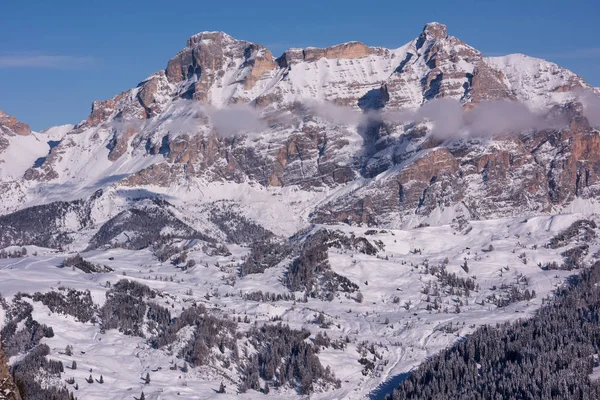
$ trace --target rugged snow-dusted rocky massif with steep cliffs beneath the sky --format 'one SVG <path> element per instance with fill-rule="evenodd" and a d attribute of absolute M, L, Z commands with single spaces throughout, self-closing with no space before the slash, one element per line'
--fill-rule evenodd
<path fill-rule="evenodd" d="M 78 193 L 98 182 L 328 193 L 311 205 L 312 222 L 398 226 L 543 213 L 594 198 L 600 188 L 600 139 L 581 90 L 597 91 L 544 60 L 482 57 L 440 23 L 398 49 L 349 42 L 278 58 L 264 46 L 203 32 L 165 70 L 94 102 L 88 119 L 23 179 L 32 190 L 69 183 Z M 378 117 L 435 99 L 471 111 L 521 102 L 566 123 L 439 138 L 429 123 Z M 11 118 L 0 114 L 0 131 L 30 132 Z"/>

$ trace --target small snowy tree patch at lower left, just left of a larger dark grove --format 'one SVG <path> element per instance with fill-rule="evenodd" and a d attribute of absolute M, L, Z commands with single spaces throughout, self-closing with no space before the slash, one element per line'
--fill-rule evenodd
<path fill-rule="evenodd" d="M 72 315 L 80 322 L 96 322 L 98 307 L 89 290 L 59 288 L 58 291 L 37 292 L 32 298 L 42 302 L 52 312 Z"/>

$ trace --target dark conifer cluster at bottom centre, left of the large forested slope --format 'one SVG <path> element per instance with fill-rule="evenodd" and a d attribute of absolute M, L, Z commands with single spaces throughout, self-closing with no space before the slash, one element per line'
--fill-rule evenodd
<path fill-rule="evenodd" d="M 340 386 L 329 367 L 319 361 L 318 347 L 306 342 L 310 332 L 279 323 L 254 328 L 247 335 L 258 353 L 249 356 L 243 370 L 242 392 L 261 390 L 259 378 L 275 387 L 296 388 L 301 394 L 310 394 L 316 383 Z"/>

